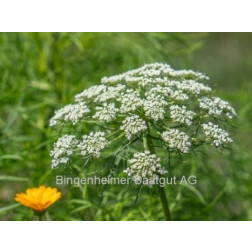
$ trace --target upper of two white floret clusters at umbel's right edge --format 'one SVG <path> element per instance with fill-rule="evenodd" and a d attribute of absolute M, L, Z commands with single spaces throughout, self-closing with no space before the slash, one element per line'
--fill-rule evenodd
<path fill-rule="evenodd" d="M 219 97 L 202 97 L 199 98 L 200 108 L 208 111 L 209 115 L 221 115 L 224 113 L 229 119 L 237 116 L 233 107 L 227 101 L 223 101 Z"/>

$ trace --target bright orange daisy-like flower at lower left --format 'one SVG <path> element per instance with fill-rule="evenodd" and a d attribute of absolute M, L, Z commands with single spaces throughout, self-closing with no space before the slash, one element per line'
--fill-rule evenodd
<path fill-rule="evenodd" d="M 43 213 L 61 197 L 61 192 L 56 188 L 40 186 L 28 188 L 26 193 L 17 193 L 15 200 L 24 206 L 30 207 L 35 212 Z"/>

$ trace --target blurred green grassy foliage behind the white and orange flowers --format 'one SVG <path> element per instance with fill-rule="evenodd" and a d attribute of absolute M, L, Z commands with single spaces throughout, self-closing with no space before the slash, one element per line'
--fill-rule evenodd
<path fill-rule="evenodd" d="M 50 168 L 55 133 L 48 122 L 55 109 L 103 76 L 151 62 L 206 73 L 216 96 L 239 114 L 230 152 L 211 149 L 170 171 L 198 179 L 196 186 L 165 188 L 172 219 L 252 220 L 251 45 L 251 33 L 1 33 L 0 220 L 36 220 L 14 202 L 15 194 L 55 186 L 55 175 L 63 172 Z M 90 172 L 108 174 L 109 162 Z M 59 189 L 63 197 L 49 209 L 48 220 L 163 220 L 155 189 Z"/>

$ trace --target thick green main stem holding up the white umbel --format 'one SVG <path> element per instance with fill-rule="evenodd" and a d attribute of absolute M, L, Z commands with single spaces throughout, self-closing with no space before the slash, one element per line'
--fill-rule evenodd
<path fill-rule="evenodd" d="M 148 148 L 149 148 L 150 152 L 153 153 L 153 154 L 156 154 L 155 147 L 154 147 L 152 139 L 151 139 L 149 127 L 148 127 L 148 134 L 147 134 L 146 138 L 144 137 L 144 145 L 146 145 L 145 141 L 147 142 L 147 145 L 148 145 Z M 165 189 L 164 189 L 164 187 L 158 185 L 158 191 L 159 191 L 161 203 L 162 203 L 162 206 L 163 206 L 165 219 L 167 221 L 170 221 L 171 220 L 171 214 L 170 214 L 170 210 L 169 210 L 169 204 L 168 204 L 167 196 L 166 196 L 166 193 L 165 193 Z"/>

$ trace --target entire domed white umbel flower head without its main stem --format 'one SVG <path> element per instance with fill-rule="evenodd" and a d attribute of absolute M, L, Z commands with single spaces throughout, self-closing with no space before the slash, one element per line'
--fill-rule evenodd
<path fill-rule="evenodd" d="M 83 118 L 87 123 L 100 121 L 97 125 L 109 123 L 106 131 L 110 137 L 115 137 L 116 134 L 124 135 L 120 132 L 124 131 L 129 141 L 138 134 L 141 136 L 143 132 L 153 132 L 156 136 L 161 136 L 160 140 L 163 139 L 170 149 L 181 153 L 189 152 L 192 148 L 191 138 L 195 137 L 199 130 L 219 147 L 232 140 L 227 132 L 207 120 L 210 121 L 216 115 L 231 119 L 236 117 L 236 112 L 228 102 L 211 97 L 212 89 L 203 84 L 208 79 L 204 74 L 192 70 L 176 71 L 167 64 L 147 64 L 122 74 L 104 77 L 100 85 L 91 86 L 77 94 L 76 104 L 56 111 L 50 125 L 53 126 L 59 121 L 76 124 Z M 167 130 L 171 124 L 174 128 Z M 183 127 L 184 131 L 178 130 L 177 126 Z M 116 132 L 115 135 L 110 134 L 110 128 Z M 51 153 L 54 167 L 68 162 L 74 148 L 81 150 L 84 157 L 98 158 L 109 143 L 103 132 L 83 136 L 78 147 L 74 146 L 77 141 L 75 139 L 68 147 L 64 145 L 62 148 L 60 146 L 63 140 L 59 139 L 59 143 L 55 143 L 60 151 L 55 147 Z M 163 141 L 160 142 L 163 144 Z M 137 179 L 139 176 L 152 177 L 157 171 L 161 173 L 162 168 L 157 165 L 159 162 L 154 156 L 146 152 L 135 154 L 135 161 L 132 161 L 132 166 L 126 170 L 127 174 L 134 174 Z M 146 164 L 143 165 L 144 162 Z"/>

